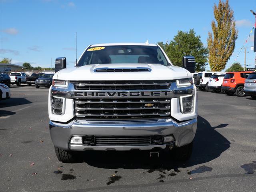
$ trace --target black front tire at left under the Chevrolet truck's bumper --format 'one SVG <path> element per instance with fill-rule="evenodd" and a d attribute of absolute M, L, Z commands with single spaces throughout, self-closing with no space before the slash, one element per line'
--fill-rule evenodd
<path fill-rule="evenodd" d="M 55 148 L 55 153 L 59 161 L 63 163 L 74 163 L 78 159 L 78 152 L 76 151 L 66 151 L 58 147 Z"/>

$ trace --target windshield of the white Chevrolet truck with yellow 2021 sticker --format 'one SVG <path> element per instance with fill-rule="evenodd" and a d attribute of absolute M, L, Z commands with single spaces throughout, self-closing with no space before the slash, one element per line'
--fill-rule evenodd
<path fill-rule="evenodd" d="M 149 63 L 169 65 L 158 46 L 104 46 L 88 48 L 78 66 L 90 64 Z"/>

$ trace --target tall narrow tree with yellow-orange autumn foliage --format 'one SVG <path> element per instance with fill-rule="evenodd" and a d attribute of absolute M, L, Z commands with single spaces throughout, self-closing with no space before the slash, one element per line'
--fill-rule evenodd
<path fill-rule="evenodd" d="M 225 68 L 235 48 L 238 31 L 234 22 L 234 12 L 228 0 L 214 4 L 214 18 L 212 32 L 208 32 L 209 64 L 212 71 L 221 71 Z"/>

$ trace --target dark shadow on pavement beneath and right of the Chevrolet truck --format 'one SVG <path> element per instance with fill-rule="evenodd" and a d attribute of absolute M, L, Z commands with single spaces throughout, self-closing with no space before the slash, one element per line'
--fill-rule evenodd
<path fill-rule="evenodd" d="M 222 154 L 230 147 L 230 142 L 218 133 L 215 128 L 224 128 L 228 124 L 212 127 L 209 122 L 198 116 L 198 128 L 194 138 L 193 153 L 188 162 L 176 162 L 167 152 L 162 152 L 160 157 L 150 157 L 147 151 L 129 152 L 84 152 L 83 162 L 90 166 L 108 169 L 146 169 L 148 172 L 171 170 L 179 172 L 178 168 L 185 168 L 209 162 Z"/>

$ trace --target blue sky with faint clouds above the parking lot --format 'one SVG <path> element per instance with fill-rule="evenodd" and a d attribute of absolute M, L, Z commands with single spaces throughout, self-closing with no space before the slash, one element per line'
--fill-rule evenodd
<path fill-rule="evenodd" d="M 206 46 L 218 0 L 173 1 L 82 1 L 82 0 L 0 0 L 0 59 L 12 63 L 50 67 L 56 57 L 65 56 L 68 67 L 75 61 L 75 32 L 78 58 L 90 44 L 108 42 L 166 42 L 178 30 L 194 28 Z M 237 23 L 236 48 L 226 68 L 236 58 L 255 18 L 255 0 L 230 0 Z M 246 64 L 254 66 L 251 34 L 246 47 Z M 244 53 L 237 61 L 244 64 Z M 209 66 L 207 69 L 210 69 Z"/>

